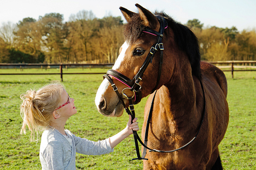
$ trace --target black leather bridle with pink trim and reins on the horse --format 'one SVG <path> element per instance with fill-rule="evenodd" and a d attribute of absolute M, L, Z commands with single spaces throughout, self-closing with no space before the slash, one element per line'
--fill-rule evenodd
<path fill-rule="evenodd" d="M 200 80 L 200 85 L 201 85 L 201 89 L 203 90 L 203 96 L 204 96 L 203 119 L 200 122 L 199 130 L 196 133 L 195 137 L 191 141 L 186 143 L 184 146 L 182 146 L 182 147 L 180 147 L 176 150 L 159 151 L 159 150 L 155 150 L 155 149 L 151 149 L 151 148 L 147 147 L 147 136 L 148 136 L 148 131 L 149 131 L 149 124 L 150 124 L 150 119 L 151 119 L 151 116 L 152 116 L 152 110 L 153 110 L 153 106 L 154 106 L 154 99 L 155 99 L 155 95 L 156 95 L 156 91 L 157 91 L 156 89 L 157 89 L 157 86 L 158 86 L 159 81 L 160 81 L 161 66 L 163 64 L 164 44 L 162 43 L 162 38 L 163 38 L 165 28 L 168 27 L 168 24 L 167 24 L 166 20 L 163 17 L 161 17 L 161 16 L 156 16 L 156 17 L 157 17 L 157 19 L 159 20 L 159 23 L 160 23 L 159 32 L 156 32 L 155 30 L 152 30 L 152 29 L 149 29 L 149 28 L 146 28 L 146 29 L 143 30 L 143 32 L 145 32 L 145 33 L 149 33 L 149 34 L 157 36 L 156 43 L 154 45 L 152 45 L 152 47 L 150 49 L 150 53 L 146 56 L 146 59 L 145 59 L 144 63 L 142 64 L 140 70 L 134 76 L 134 78 L 131 80 L 131 79 L 127 78 L 125 75 L 119 73 L 116 70 L 112 70 L 112 69 L 108 70 L 107 74 L 104 75 L 104 78 L 109 80 L 113 90 L 116 92 L 116 95 L 119 97 L 119 100 L 122 102 L 122 105 L 124 105 L 124 108 L 125 108 L 127 114 L 131 115 L 132 120 L 133 120 L 135 118 L 134 105 L 138 104 L 141 101 L 141 85 L 139 83 L 142 80 L 142 76 L 143 76 L 147 66 L 149 65 L 149 63 L 152 63 L 152 59 L 154 58 L 154 55 L 155 55 L 156 51 L 160 50 L 159 73 L 158 73 L 156 85 L 155 85 L 154 89 L 151 91 L 151 93 L 155 91 L 155 94 L 154 94 L 154 97 L 152 99 L 151 107 L 150 107 L 150 111 L 149 111 L 149 116 L 147 118 L 144 143 L 141 141 L 139 135 L 137 135 L 137 132 L 133 131 L 134 141 L 135 141 L 135 148 L 136 148 L 136 153 L 137 153 L 137 158 L 134 158 L 134 159 L 145 159 L 145 160 L 147 160 L 145 158 L 146 150 L 149 150 L 150 152 L 170 153 L 170 152 L 175 152 L 175 151 L 181 150 L 184 147 L 188 146 L 198 136 L 198 133 L 199 133 L 200 128 L 203 124 L 204 115 L 205 115 L 205 94 L 204 94 L 203 84 L 201 83 L 201 80 Z M 115 83 L 113 82 L 112 77 L 114 77 L 116 80 L 120 81 L 121 83 L 125 84 L 127 86 L 127 88 L 125 88 L 125 89 L 131 90 L 133 92 L 133 95 L 132 96 L 127 96 L 124 92 L 125 89 L 123 89 L 121 94 L 120 94 L 117 91 L 118 89 L 117 89 Z M 126 107 L 125 102 L 124 102 L 123 99 L 127 99 L 129 101 L 129 108 Z M 139 141 L 141 143 L 141 145 L 144 147 L 144 151 L 142 153 L 142 156 L 140 156 L 139 145 L 138 145 L 137 141 Z M 132 159 L 132 160 L 134 160 L 134 159 Z"/>

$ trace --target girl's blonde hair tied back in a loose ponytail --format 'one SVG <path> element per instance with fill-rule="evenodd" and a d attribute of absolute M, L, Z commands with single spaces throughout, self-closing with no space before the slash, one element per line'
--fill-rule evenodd
<path fill-rule="evenodd" d="M 61 100 L 61 93 L 64 86 L 59 82 L 51 83 L 41 87 L 41 89 L 28 90 L 20 97 L 23 100 L 21 104 L 21 117 L 23 119 L 21 134 L 26 134 L 26 126 L 31 131 L 31 141 L 35 141 L 35 132 L 37 133 L 50 125 L 52 113 L 58 107 Z"/>

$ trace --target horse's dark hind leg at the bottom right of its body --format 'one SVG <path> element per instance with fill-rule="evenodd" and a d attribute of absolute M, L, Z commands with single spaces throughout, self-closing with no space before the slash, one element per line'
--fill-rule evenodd
<path fill-rule="evenodd" d="M 206 166 L 207 170 L 222 170 L 223 167 L 221 165 L 220 155 L 219 155 L 219 148 L 211 154 L 211 159 Z"/>

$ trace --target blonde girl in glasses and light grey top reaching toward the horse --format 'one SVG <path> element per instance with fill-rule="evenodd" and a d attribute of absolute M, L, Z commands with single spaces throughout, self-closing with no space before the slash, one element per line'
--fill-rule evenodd
<path fill-rule="evenodd" d="M 42 169 L 76 169 L 76 152 L 93 155 L 113 152 L 117 144 L 132 134 L 132 130 L 139 130 L 137 118 L 131 123 L 129 116 L 126 128 L 106 140 L 93 142 L 73 135 L 64 126 L 67 119 L 77 112 L 75 100 L 60 83 L 46 85 L 37 91 L 28 90 L 21 99 L 21 133 L 26 134 L 28 126 L 32 140 L 35 132 L 45 128 L 40 145 Z"/>

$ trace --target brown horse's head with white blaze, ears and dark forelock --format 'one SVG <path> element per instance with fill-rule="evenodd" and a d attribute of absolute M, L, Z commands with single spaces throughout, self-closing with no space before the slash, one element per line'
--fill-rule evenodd
<path fill-rule="evenodd" d="M 125 43 L 120 48 L 120 55 L 112 70 L 107 73 L 109 78 L 101 83 L 95 98 L 97 109 L 105 116 L 121 116 L 124 107 L 129 106 L 127 97 L 134 96 L 133 101 L 136 104 L 150 92 L 168 83 L 174 69 L 179 67 L 174 63 L 177 63 L 177 59 L 183 60 L 179 59 L 180 47 L 179 42 L 175 41 L 175 30 L 169 28 L 169 24 L 172 27 L 179 23 L 163 14 L 155 16 L 139 4 L 136 4 L 136 7 L 139 13 L 120 7 L 127 20 L 124 27 Z M 162 43 L 169 49 L 163 50 Z M 163 56 L 163 62 L 161 56 Z M 185 58 L 185 60 L 190 59 Z M 159 69 L 160 67 L 162 69 Z M 161 76 L 159 70 L 161 70 Z M 112 80 L 112 86 L 117 87 L 120 95 L 113 90 L 109 79 Z M 120 100 L 120 96 L 124 103 Z"/>

